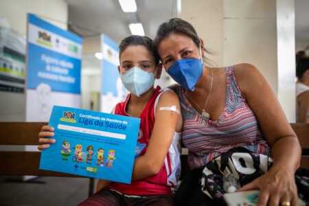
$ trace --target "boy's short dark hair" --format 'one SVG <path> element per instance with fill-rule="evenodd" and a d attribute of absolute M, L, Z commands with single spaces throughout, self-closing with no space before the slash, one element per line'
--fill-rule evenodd
<path fill-rule="evenodd" d="M 153 49 L 152 47 L 152 39 L 148 36 L 139 36 L 139 35 L 131 35 L 127 36 L 122 40 L 122 42 L 119 44 L 119 59 L 122 55 L 122 52 L 126 49 L 126 47 L 130 45 L 141 45 L 148 49 L 148 51 L 155 57 L 155 63 L 156 65 L 159 64 L 159 54 L 157 53 L 157 50 Z"/>

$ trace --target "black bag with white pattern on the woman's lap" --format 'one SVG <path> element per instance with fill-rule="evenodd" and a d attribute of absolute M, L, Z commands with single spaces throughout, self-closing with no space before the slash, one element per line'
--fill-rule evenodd
<path fill-rule="evenodd" d="M 247 148 L 236 147 L 209 161 L 203 170 L 201 187 L 204 194 L 224 204 L 223 194 L 233 192 L 238 187 L 250 183 L 267 172 L 273 159 L 267 155 L 256 154 Z M 308 201 L 308 170 L 295 173 L 299 197 Z M 307 195 L 305 195 L 307 194 Z M 307 196 L 307 200 L 304 196 Z"/>

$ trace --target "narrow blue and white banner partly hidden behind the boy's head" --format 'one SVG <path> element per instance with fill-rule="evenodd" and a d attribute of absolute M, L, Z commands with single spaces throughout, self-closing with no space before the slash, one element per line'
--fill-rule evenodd
<path fill-rule="evenodd" d="M 101 36 L 102 59 L 102 98 L 100 111 L 110 113 L 128 91 L 119 76 L 119 49 L 117 43 L 108 36 Z"/>

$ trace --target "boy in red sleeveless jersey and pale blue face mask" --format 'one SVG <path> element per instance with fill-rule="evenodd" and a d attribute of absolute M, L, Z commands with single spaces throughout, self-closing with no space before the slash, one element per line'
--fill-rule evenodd
<path fill-rule="evenodd" d="M 80 205 L 174 205 L 181 172 L 182 117 L 176 93 L 154 88 L 162 65 L 146 36 L 128 36 L 119 45 L 119 75 L 130 91 L 113 109 L 117 115 L 141 118 L 130 184 L 99 180 L 97 192 Z M 43 126 L 39 150 L 55 139 L 54 128 Z"/>

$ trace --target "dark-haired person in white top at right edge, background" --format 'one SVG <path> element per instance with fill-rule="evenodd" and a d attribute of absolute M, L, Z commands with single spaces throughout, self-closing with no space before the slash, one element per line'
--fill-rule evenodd
<path fill-rule="evenodd" d="M 309 123 L 309 57 L 297 62 L 296 76 L 296 122 Z"/>

